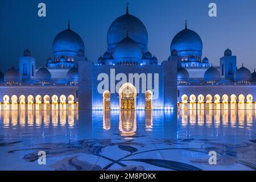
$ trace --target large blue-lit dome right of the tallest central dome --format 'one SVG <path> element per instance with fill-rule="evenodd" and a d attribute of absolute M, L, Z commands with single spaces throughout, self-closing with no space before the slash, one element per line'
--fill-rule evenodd
<path fill-rule="evenodd" d="M 173 49 L 176 49 L 179 53 L 187 51 L 201 53 L 203 51 L 203 43 L 196 32 L 185 28 L 172 39 L 171 51 Z"/>

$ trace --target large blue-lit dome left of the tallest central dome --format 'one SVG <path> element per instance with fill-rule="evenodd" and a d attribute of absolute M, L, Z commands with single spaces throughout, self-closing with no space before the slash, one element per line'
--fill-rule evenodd
<path fill-rule="evenodd" d="M 81 49 L 84 51 L 84 42 L 81 37 L 73 30 L 68 28 L 61 31 L 53 40 L 53 54 L 60 55 L 77 55 Z"/>

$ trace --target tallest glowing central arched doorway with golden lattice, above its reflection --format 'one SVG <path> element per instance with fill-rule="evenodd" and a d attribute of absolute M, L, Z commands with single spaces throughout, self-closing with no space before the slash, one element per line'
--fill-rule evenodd
<path fill-rule="evenodd" d="M 133 84 L 125 83 L 119 89 L 120 109 L 136 109 L 137 90 Z"/>

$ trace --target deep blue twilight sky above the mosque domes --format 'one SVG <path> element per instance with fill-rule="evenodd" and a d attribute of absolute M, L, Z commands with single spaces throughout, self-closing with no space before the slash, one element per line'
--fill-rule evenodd
<path fill-rule="evenodd" d="M 47 16 L 39 18 L 38 4 L 46 3 Z M 96 63 L 106 51 L 110 24 L 125 14 L 126 0 L 1 0 L 0 55 L 1 69 L 14 64 L 28 48 L 37 67 L 52 57 L 55 36 L 67 29 L 76 31 L 85 43 L 85 56 Z M 217 17 L 208 15 L 208 5 L 217 4 Z M 252 72 L 256 68 L 255 0 L 129 0 L 129 13 L 137 16 L 148 31 L 148 49 L 159 63 L 170 56 L 172 38 L 184 28 L 196 31 L 203 40 L 203 56 L 219 65 L 226 48 L 237 55 Z"/>

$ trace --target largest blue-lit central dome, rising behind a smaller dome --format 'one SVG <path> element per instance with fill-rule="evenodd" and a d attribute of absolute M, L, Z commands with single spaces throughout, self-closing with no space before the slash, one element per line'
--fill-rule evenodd
<path fill-rule="evenodd" d="M 147 29 L 141 20 L 128 13 L 119 16 L 110 25 L 107 35 L 108 51 L 113 51 L 115 46 L 125 38 L 127 31 L 129 31 L 129 37 L 138 43 L 143 52 L 146 52 L 148 44 Z"/>

